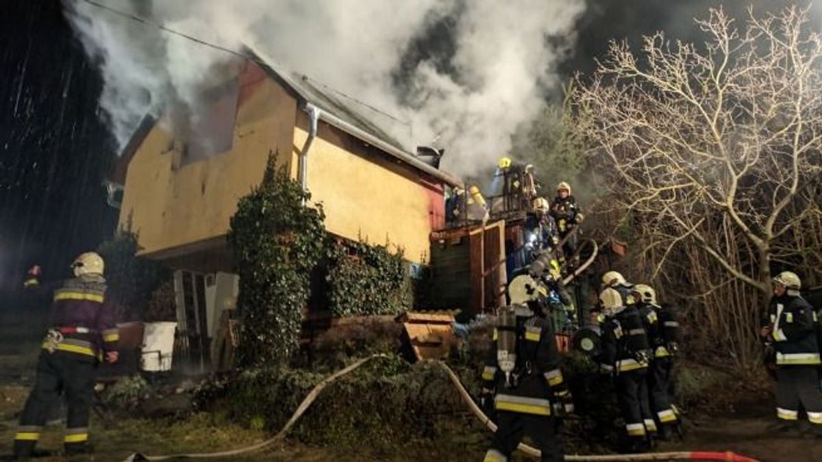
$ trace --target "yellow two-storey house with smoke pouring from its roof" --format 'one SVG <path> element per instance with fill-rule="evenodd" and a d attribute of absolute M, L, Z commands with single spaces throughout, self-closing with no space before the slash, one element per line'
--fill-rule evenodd
<path fill-rule="evenodd" d="M 269 153 L 322 203 L 329 233 L 387 239 L 410 265 L 429 263 L 456 178 L 402 150 L 321 85 L 259 56 L 205 99 L 187 135 L 169 129 L 173 114 L 146 118 L 110 188 L 122 192 L 113 203 L 120 226 L 137 233 L 140 255 L 175 270 L 178 335 L 207 350 L 200 356 L 215 354 L 207 345 L 236 300 L 229 219 L 261 181 Z"/>

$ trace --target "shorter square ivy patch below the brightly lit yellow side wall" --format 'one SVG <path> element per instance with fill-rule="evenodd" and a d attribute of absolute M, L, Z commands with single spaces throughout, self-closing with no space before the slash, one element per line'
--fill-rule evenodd
<path fill-rule="evenodd" d="M 327 247 L 328 300 L 335 316 L 398 314 L 413 307 L 403 251 L 367 242 L 332 241 Z"/>

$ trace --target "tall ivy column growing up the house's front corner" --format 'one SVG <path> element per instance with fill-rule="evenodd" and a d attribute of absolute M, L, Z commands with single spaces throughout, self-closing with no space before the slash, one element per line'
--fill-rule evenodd
<path fill-rule="evenodd" d="M 284 364 L 297 349 L 309 276 L 325 242 L 322 206 L 276 168 L 270 155 L 259 187 L 240 199 L 229 243 L 240 276 L 240 364 Z"/>

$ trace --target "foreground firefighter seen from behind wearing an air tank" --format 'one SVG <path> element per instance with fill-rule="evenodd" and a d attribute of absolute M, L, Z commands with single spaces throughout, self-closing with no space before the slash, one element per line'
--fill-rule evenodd
<path fill-rule="evenodd" d="M 541 460 L 564 459 L 561 417 L 574 404 L 546 311 L 537 298 L 502 307 L 497 316 L 481 395 L 483 407 L 493 403 L 498 426 L 486 462 L 508 460 L 523 436 L 537 445 Z"/>

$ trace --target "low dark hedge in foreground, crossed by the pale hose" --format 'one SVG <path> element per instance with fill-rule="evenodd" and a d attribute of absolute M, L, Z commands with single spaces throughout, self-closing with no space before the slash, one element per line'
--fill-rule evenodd
<path fill-rule="evenodd" d="M 203 390 L 230 419 L 247 427 L 279 431 L 325 375 L 286 367 L 247 370 L 225 381 L 221 392 Z M 199 404 L 199 409 L 205 409 Z M 430 363 L 409 364 L 389 356 L 372 359 L 326 387 L 290 437 L 318 446 L 391 449 L 446 431 L 443 416 L 465 412 L 446 374 Z M 461 428 L 478 432 L 479 427 Z"/>

